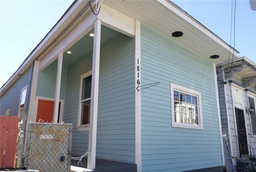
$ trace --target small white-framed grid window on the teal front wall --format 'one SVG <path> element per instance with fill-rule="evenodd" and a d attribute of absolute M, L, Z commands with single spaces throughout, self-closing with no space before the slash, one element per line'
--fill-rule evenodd
<path fill-rule="evenodd" d="M 172 126 L 203 129 L 201 93 L 171 83 Z"/>

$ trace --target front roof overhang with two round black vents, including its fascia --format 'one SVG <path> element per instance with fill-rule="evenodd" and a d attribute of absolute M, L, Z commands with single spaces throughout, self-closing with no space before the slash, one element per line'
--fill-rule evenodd
<path fill-rule="evenodd" d="M 220 56 L 219 58 L 211 59 L 214 63 L 228 60 L 230 47 L 228 44 L 186 14 L 186 12 L 180 10 L 178 7 L 173 7 L 170 3 L 172 2 L 165 0 L 110 0 L 103 2 L 103 4 L 118 10 L 126 16 L 139 20 L 163 33 L 165 36 L 174 39 L 179 44 L 182 44 L 204 58 L 210 59 L 210 56 L 218 54 Z M 182 31 L 184 35 L 180 38 L 174 38 L 172 37 L 172 32 L 175 31 Z M 237 53 L 235 51 L 235 56 L 237 56 Z"/>

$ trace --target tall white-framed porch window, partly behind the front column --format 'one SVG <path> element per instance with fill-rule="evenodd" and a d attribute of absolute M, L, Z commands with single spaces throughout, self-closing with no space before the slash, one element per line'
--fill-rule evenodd
<path fill-rule="evenodd" d="M 78 106 L 78 127 L 88 127 L 90 124 L 92 71 L 81 75 Z"/>

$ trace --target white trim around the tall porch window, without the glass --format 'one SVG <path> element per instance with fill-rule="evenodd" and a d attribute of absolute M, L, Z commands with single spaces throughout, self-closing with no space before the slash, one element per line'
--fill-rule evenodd
<path fill-rule="evenodd" d="M 79 89 L 79 100 L 78 100 L 78 116 L 77 116 L 77 130 L 78 131 L 89 131 L 90 124 L 83 124 L 81 125 L 81 108 L 82 108 L 82 84 L 83 79 L 92 75 L 92 70 L 89 72 L 86 72 L 85 74 L 82 74 L 80 77 L 80 89 Z M 90 99 L 91 100 L 91 99 Z"/>

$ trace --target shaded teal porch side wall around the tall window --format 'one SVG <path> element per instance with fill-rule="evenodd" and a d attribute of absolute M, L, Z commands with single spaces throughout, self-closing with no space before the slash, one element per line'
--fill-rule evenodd
<path fill-rule="evenodd" d="M 68 66 L 64 121 L 73 124 L 72 154 L 88 150 L 78 132 L 80 76 L 92 70 L 92 53 Z M 96 157 L 134 162 L 134 39 L 118 34 L 101 45 Z"/>

